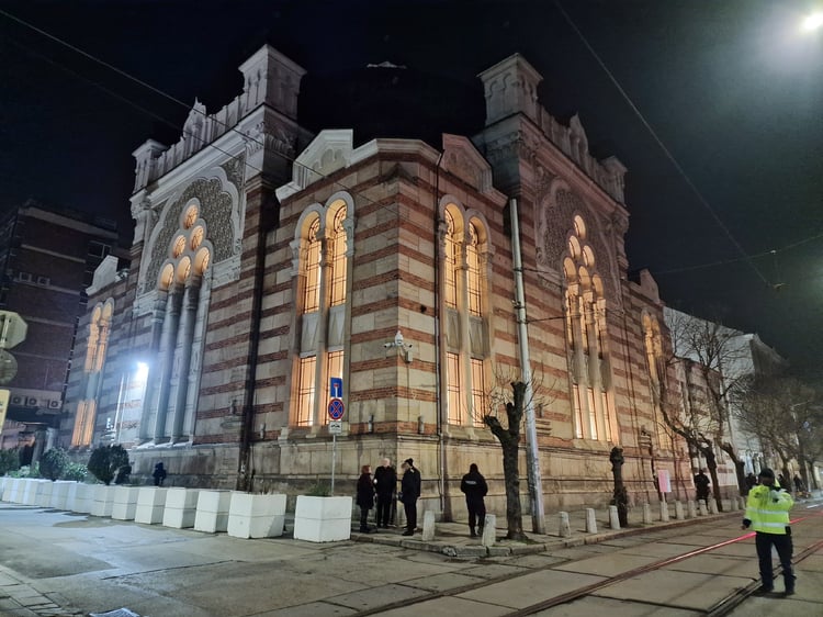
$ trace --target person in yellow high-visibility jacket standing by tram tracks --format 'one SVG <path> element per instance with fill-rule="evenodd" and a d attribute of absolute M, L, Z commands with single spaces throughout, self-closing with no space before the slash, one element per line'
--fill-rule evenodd
<path fill-rule="evenodd" d="M 794 594 L 794 572 L 791 569 L 791 527 L 789 511 L 794 505 L 791 493 L 783 491 L 775 481 L 775 472 L 762 469 L 757 475 L 760 484 L 748 492 L 746 514 L 743 528 L 755 531 L 755 547 L 760 568 L 760 587 L 757 594 L 774 591 L 774 571 L 771 565 L 771 547 L 777 550 L 780 565 L 783 569 L 783 595 Z"/>

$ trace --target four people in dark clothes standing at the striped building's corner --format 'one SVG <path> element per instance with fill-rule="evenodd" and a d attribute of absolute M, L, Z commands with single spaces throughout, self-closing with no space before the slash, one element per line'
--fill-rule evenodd
<path fill-rule="evenodd" d="M 420 471 L 415 467 L 414 459 L 406 459 L 401 465 L 401 490 L 396 498 L 403 504 L 406 515 L 406 528 L 404 536 L 413 536 L 417 529 L 417 500 L 420 497 Z M 472 538 L 477 536 L 475 529 L 483 532 L 483 521 L 486 517 L 486 505 L 484 497 L 488 492 L 486 479 L 480 473 L 477 465 L 472 463 L 461 483 L 460 490 L 465 494 L 466 508 L 469 509 L 469 529 Z M 364 464 L 360 470 L 357 483 L 356 503 L 360 507 L 360 531 L 368 534 L 369 511 L 376 506 L 376 528 L 388 528 L 392 518 L 395 492 L 397 491 L 397 471 L 392 467 L 392 461 L 384 458 L 381 465 L 374 470 L 372 476 L 371 465 Z"/>

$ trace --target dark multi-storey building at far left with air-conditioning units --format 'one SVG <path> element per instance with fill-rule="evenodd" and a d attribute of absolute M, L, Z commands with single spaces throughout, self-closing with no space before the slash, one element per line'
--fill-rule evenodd
<path fill-rule="evenodd" d="M 54 442 L 86 288 L 116 245 L 113 221 L 35 202 L 0 221 L 0 310 L 27 324 L 25 340 L 9 350 L 15 370 L 2 385 L 10 390 L 2 444 L 26 448 L 24 462 Z"/>

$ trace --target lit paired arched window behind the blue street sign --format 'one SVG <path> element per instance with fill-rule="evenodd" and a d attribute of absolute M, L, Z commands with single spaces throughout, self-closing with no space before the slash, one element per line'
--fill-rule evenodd
<path fill-rule="evenodd" d="M 346 308 L 351 261 L 350 198 L 338 195 L 304 215 L 293 243 L 296 257 L 300 348 L 293 380 L 292 424 L 328 423 L 320 402 L 330 396 L 331 378 L 342 380 Z"/>

